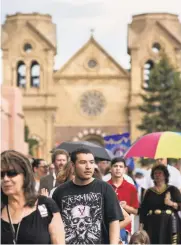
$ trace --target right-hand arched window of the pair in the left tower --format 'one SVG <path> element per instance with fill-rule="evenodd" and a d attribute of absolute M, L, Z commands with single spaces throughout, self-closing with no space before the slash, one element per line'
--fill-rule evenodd
<path fill-rule="evenodd" d="M 37 61 L 33 61 L 31 64 L 31 87 L 40 87 L 40 65 Z"/>

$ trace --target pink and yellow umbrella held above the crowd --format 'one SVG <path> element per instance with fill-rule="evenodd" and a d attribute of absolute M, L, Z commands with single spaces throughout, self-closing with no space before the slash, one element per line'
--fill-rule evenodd
<path fill-rule="evenodd" d="M 181 133 L 156 132 L 139 138 L 126 152 L 125 158 L 181 158 Z"/>

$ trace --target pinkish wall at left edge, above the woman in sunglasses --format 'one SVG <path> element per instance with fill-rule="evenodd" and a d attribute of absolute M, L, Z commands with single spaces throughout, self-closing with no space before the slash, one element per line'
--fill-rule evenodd
<path fill-rule="evenodd" d="M 28 145 L 24 141 L 21 91 L 2 86 L 1 94 L 1 151 L 13 149 L 28 154 Z"/>

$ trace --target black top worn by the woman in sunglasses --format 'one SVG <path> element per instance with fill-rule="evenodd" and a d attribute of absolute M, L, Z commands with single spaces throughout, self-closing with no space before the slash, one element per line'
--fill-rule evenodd
<path fill-rule="evenodd" d="M 50 234 L 48 226 L 51 223 L 53 213 L 59 209 L 51 198 L 45 196 L 38 197 L 37 209 L 25 216 L 19 228 L 18 244 L 50 244 Z M 18 224 L 14 224 L 17 231 Z M 10 224 L 1 219 L 1 243 L 13 244 L 13 234 Z"/>

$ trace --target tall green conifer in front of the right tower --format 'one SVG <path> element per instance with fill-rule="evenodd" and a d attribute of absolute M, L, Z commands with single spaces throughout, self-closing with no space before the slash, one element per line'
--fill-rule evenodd
<path fill-rule="evenodd" d="M 143 113 L 138 128 L 145 133 L 181 131 L 181 77 L 163 54 L 150 72 L 147 87 L 140 95 Z"/>

